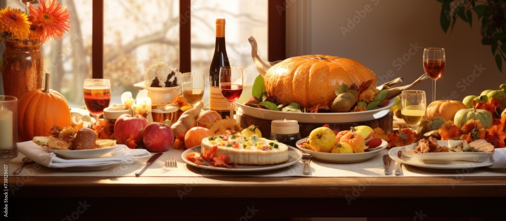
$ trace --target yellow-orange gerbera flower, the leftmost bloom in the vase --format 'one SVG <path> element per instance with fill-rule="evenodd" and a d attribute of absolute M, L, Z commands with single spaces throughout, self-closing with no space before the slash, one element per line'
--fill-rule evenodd
<path fill-rule="evenodd" d="M 30 33 L 29 27 L 28 17 L 23 11 L 11 7 L 0 10 L 0 32 L 7 32 L 12 36 L 12 38 L 8 37 L 7 39 L 24 40 Z"/>

